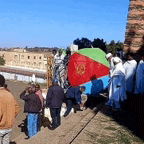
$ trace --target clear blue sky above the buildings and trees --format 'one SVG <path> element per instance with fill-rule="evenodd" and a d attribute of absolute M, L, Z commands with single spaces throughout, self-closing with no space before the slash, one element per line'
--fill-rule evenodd
<path fill-rule="evenodd" d="M 124 41 L 129 0 L 0 0 L 0 47 Z"/>

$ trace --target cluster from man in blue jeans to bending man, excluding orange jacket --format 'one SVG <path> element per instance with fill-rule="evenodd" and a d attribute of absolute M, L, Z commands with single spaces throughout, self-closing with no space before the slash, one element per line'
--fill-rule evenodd
<path fill-rule="evenodd" d="M 39 85 L 26 88 L 20 94 L 20 98 L 25 101 L 24 112 L 28 113 L 28 138 L 35 136 L 40 130 L 40 116 L 42 114 L 43 119 L 44 108 L 50 109 L 52 123 L 49 129 L 54 130 L 61 125 L 60 112 L 64 98 L 67 99 L 67 110 L 64 114 L 64 117 L 66 117 L 70 113 L 72 106 L 83 105 L 81 103 L 81 94 L 84 90 L 84 86 L 72 87 L 67 91 L 65 97 L 63 88 L 59 86 L 58 80 L 55 78 L 53 85 L 48 89 L 46 101 L 44 102 Z M 80 108 L 75 109 L 75 111 L 77 110 L 80 110 Z"/>

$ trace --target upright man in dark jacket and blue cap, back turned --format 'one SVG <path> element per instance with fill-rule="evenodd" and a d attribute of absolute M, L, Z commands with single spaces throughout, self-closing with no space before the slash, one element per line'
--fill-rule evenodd
<path fill-rule="evenodd" d="M 58 80 L 54 79 L 53 86 L 49 88 L 46 97 L 46 107 L 50 108 L 50 113 L 52 117 L 51 130 L 54 130 L 61 124 L 60 111 L 63 98 L 64 90 L 58 85 Z"/>

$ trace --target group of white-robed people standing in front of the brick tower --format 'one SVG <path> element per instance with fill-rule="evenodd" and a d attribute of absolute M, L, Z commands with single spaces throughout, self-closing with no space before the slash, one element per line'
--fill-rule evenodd
<path fill-rule="evenodd" d="M 107 106 L 120 110 L 122 102 L 132 95 L 144 94 L 144 61 L 135 59 L 134 53 L 127 53 L 127 61 L 119 57 L 113 57 L 111 53 L 106 55 L 110 63 L 109 101 Z"/>

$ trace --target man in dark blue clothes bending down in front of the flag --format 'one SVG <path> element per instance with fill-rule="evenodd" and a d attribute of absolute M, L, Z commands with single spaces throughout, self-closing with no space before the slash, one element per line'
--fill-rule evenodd
<path fill-rule="evenodd" d="M 85 86 L 78 86 L 78 87 L 72 87 L 70 88 L 66 93 L 66 99 L 67 99 L 67 110 L 64 114 L 64 117 L 66 117 L 74 105 L 76 107 L 82 105 L 81 103 L 81 94 L 85 91 Z M 76 108 L 75 108 L 76 109 Z M 76 110 L 75 110 L 76 111 Z"/>

